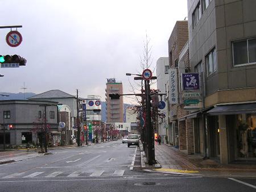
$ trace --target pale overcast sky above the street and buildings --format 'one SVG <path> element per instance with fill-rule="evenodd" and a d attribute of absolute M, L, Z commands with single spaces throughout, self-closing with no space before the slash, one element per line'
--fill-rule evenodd
<path fill-rule="evenodd" d="M 1 0 L 0 26 L 22 25 L 18 47 L 6 43 L 0 29 L 0 55 L 27 59 L 20 68 L 0 68 L 0 92 L 36 94 L 59 89 L 105 100 L 106 78 L 131 87 L 125 73 L 142 73 L 140 57 L 146 33 L 152 46 L 152 70 L 168 56 L 168 39 L 177 20 L 187 16 L 187 0 Z M 5 7 L 5 9 L 3 9 Z M 13 30 L 16 30 L 14 28 Z M 125 98 L 128 103 L 128 99 Z"/>

